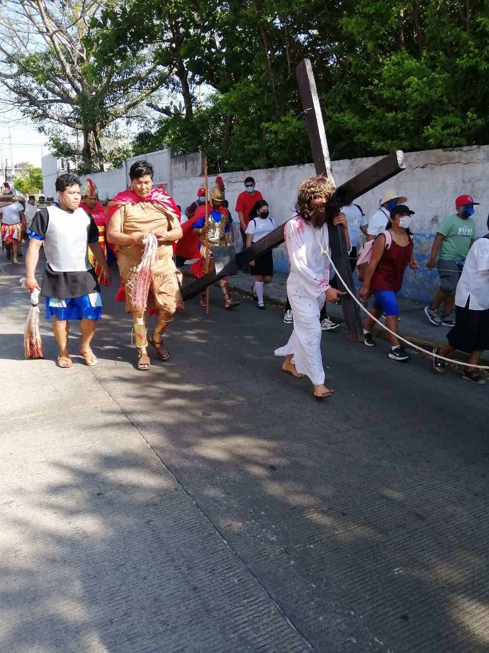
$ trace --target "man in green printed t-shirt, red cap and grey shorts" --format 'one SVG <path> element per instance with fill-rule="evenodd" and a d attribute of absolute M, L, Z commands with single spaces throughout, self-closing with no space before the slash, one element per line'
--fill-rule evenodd
<path fill-rule="evenodd" d="M 438 225 L 431 249 L 430 260 L 426 263 L 428 270 L 436 265 L 439 276 L 439 291 L 430 306 L 424 312 L 432 323 L 439 327 L 454 327 L 451 317 L 455 291 L 462 274 L 464 261 L 475 240 L 475 222 L 471 218 L 474 212 L 471 195 L 459 195 L 455 200 L 456 215 L 449 215 Z M 438 315 L 438 308 L 443 302 L 443 315 Z"/>

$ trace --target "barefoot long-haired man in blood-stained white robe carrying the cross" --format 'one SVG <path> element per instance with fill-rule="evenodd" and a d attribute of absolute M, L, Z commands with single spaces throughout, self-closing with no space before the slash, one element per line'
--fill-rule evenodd
<path fill-rule="evenodd" d="M 319 311 L 326 300 L 337 302 L 345 294 L 329 285 L 328 221 L 343 225 L 350 249 L 346 215 L 340 212 L 335 191 L 333 182 L 323 175 L 301 183 L 295 204 L 297 215 L 285 227 L 290 262 L 287 295 L 294 328 L 285 347 L 275 350 L 276 356 L 286 357 L 282 370 L 295 377 L 306 374 L 314 386 L 314 396 L 321 399 L 334 390 L 324 385 Z"/>

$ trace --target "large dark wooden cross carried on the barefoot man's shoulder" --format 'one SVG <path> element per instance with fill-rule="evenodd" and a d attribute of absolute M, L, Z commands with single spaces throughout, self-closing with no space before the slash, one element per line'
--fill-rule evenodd
<path fill-rule="evenodd" d="M 296 72 L 316 174 L 325 174 L 334 182 L 323 116 L 321 114 L 321 106 L 319 105 L 318 91 L 309 59 L 303 59 L 297 66 Z M 366 168 L 366 170 L 357 174 L 357 176 L 351 178 L 348 182 L 343 183 L 336 189 L 336 193 L 345 206 L 367 191 L 372 190 L 372 188 L 387 182 L 387 180 L 404 170 L 404 168 L 406 168 L 404 154 L 402 151 L 397 150 L 377 163 L 374 163 L 369 168 Z M 243 265 L 244 263 L 249 263 L 256 259 L 256 257 L 282 244 L 284 242 L 284 226 L 280 225 L 280 227 L 274 229 L 274 231 L 261 238 L 254 245 L 246 247 L 246 249 L 239 252 L 236 255 L 237 264 Z M 348 288 L 356 295 L 343 228 L 328 225 L 328 231 L 331 259 L 333 259 L 333 263 L 340 276 L 346 281 Z M 183 300 L 186 301 L 199 295 L 211 283 L 221 279 L 222 276 L 224 275 L 219 276 L 213 270 L 194 281 L 190 281 L 182 289 Z M 344 289 L 341 282 L 339 283 L 339 287 L 340 290 Z M 351 296 L 348 294 L 342 296 L 341 306 L 345 317 L 348 340 L 350 342 L 363 342 L 363 328 L 359 306 L 353 302 Z"/>

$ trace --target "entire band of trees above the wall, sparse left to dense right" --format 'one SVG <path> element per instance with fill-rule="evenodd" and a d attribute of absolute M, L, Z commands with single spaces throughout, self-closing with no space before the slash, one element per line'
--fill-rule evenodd
<path fill-rule="evenodd" d="M 55 9 L 45 46 L 14 42 L 0 79 L 33 119 L 57 112 L 82 129 L 85 167 L 102 167 L 102 135 L 141 102 L 134 153 L 205 150 L 215 171 L 310 161 L 304 57 L 335 158 L 489 142 L 489 0 L 94 2 L 79 18 L 65 0 L 21 0 L 23 12 Z M 56 40 L 57 24 L 70 39 Z"/>

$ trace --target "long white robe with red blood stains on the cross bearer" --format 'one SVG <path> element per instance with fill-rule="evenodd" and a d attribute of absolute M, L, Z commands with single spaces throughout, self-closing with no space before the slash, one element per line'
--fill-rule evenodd
<path fill-rule="evenodd" d="M 319 311 L 326 300 L 325 291 L 330 287 L 329 260 L 323 256 L 323 251 L 329 249 L 327 227 L 314 229 L 296 215 L 286 224 L 285 241 L 290 263 L 287 294 L 294 328 L 289 342 L 276 349 L 275 355 L 292 354 L 297 372 L 306 374 L 314 385 L 321 385 L 325 375 Z"/>

